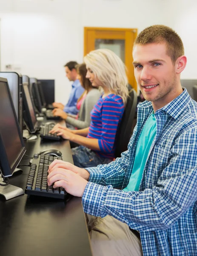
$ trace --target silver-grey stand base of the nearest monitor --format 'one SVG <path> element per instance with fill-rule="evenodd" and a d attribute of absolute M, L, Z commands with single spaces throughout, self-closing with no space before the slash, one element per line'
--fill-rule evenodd
<path fill-rule="evenodd" d="M 14 172 L 18 172 L 18 171 L 21 171 L 21 169 L 14 170 Z M 3 178 L 1 177 L 1 174 L 0 174 L 0 183 L 3 185 L 6 185 L 6 183 L 4 183 L 3 181 Z M 3 195 L 5 200 L 9 200 L 11 198 L 14 198 L 23 194 L 24 194 L 23 189 L 17 186 L 13 186 L 11 184 L 8 184 L 6 186 L 0 186 L 0 195 Z"/>

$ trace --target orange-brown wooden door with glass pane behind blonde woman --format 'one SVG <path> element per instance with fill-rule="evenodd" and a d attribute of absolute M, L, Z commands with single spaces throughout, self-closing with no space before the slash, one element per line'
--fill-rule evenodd
<path fill-rule="evenodd" d="M 137 29 L 115 28 L 84 28 L 84 56 L 90 51 L 100 48 L 111 49 L 125 63 L 127 67 L 128 82 L 137 91 L 132 65 L 132 50 Z"/>

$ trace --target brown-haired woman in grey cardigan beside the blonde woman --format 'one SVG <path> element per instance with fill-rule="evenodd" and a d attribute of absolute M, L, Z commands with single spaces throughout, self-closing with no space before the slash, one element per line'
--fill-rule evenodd
<path fill-rule="evenodd" d="M 54 115 L 60 116 L 66 120 L 66 126 L 73 126 L 72 128 L 83 129 L 89 127 L 91 121 L 91 111 L 94 108 L 94 105 L 97 103 L 97 100 L 100 98 L 101 92 L 97 87 L 93 87 L 91 81 L 86 78 L 86 64 L 78 64 L 77 69 L 77 78 L 80 81 L 81 86 L 85 89 L 82 95 L 77 100 L 77 109 L 79 113 L 77 116 L 68 115 L 63 110 L 57 108 L 54 111 Z M 69 125 L 68 125 L 69 124 Z M 71 127 L 69 127 L 71 128 Z"/>

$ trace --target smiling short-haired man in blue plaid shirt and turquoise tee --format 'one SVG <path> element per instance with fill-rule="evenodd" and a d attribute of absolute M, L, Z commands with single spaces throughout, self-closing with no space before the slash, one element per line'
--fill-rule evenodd
<path fill-rule="evenodd" d="M 54 161 L 48 183 L 82 197 L 94 255 L 197 254 L 197 103 L 180 84 L 186 67 L 174 30 L 144 29 L 134 73 L 145 102 L 128 151 L 108 165 L 80 169 Z M 114 189 L 122 186 L 123 190 Z M 135 230 L 135 231 L 134 231 Z M 140 240 L 136 236 L 140 231 Z"/>

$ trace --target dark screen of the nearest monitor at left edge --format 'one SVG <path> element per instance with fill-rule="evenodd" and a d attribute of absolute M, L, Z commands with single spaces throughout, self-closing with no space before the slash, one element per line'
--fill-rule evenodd
<path fill-rule="evenodd" d="M 8 177 L 20 163 L 26 149 L 7 79 L 0 79 L 0 92 L 0 166 L 2 175 Z"/>

